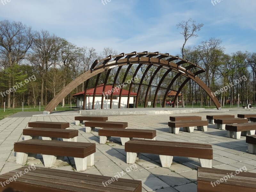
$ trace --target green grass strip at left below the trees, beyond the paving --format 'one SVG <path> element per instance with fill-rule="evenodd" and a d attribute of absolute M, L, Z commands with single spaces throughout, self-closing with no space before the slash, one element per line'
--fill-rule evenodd
<path fill-rule="evenodd" d="M 75 104 L 72 105 L 72 107 L 75 107 Z M 62 108 L 62 106 L 57 106 L 56 107 L 56 111 L 70 111 L 70 110 L 74 110 L 74 109 L 70 109 L 70 105 L 65 105 L 65 107 Z M 39 111 L 39 107 L 37 106 L 36 108 L 31 108 L 31 107 L 28 107 L 28 106 L 24 106 L 23 107 L 23 111 L 24 112 L 27 112 L 27 111 Z M 44 111 L 44 107 L 41 107 L 40 108 L 40 111 Z M 54 110 L 55 111 L 55 110 Z M 8 116 L 11 116 L 15 113 L 18 113 L 18 112 L 22 112 L 22 107 L 18 107 L 18 108 L 5 108 L 5 111 L 4 111 L 4 108 L 0 108 L 0 120 L 8 117 Z"/>

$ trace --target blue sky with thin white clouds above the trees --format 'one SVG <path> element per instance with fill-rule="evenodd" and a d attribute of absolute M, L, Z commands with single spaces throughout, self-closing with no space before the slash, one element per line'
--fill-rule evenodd
<path fill-rule="evenodd" d="M 255 0 L 2 0 L 0 20 L 48 30 L 100 53 L 180 54 L 184 37 L 176 24 L 192 18 L 204 26 L 186 46 L 220 38 L 225 53 L 256 52 Z"/>

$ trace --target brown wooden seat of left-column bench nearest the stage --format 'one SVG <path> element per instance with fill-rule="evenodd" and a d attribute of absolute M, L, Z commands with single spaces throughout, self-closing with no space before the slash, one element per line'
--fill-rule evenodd
<path fill-rule="evenodd" d="M 29 122 L 28 127 L 68 129 L 69 128 L 69 123 L 66 123 L 66 122 L 51 122 L 51 121 L 35 121 L 35 122 Z"/>

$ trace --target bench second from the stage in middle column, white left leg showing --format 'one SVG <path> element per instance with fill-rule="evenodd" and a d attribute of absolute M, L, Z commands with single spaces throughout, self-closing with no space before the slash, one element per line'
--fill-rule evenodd
<path fill-rule="evenodd" d="M 95 131 L 95 127 L 125 129 L 128 127 L 128 123 L 116 121 L 86 121 L 84 122 L 84 126 L 85 132 L 89 133 L 91 131 Z"/>

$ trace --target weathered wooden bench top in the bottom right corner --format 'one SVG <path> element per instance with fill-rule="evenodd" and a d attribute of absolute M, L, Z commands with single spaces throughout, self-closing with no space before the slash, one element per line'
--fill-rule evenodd
<path fill-rule="evenodd" d="M 237 171 L 198 167 L 197 192 L 256 191 L 256 173 Z"/>

